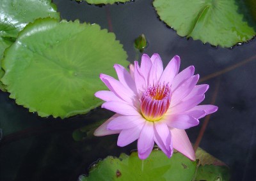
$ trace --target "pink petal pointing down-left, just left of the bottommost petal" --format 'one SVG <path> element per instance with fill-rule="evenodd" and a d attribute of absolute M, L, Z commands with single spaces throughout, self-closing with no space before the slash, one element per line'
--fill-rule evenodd
<path fill-rule="evenodd" d="M 129 145 L 133 141 L 137 140 L 140 136 L 141 129 L 144 126 L 144 124 L 145 123 L 140 124 L 136 127 L 132 127 L 130 129 L 122 130 L 118 136 L 117 145 L 119 147 L 125 147 L 126 145 Z"/>

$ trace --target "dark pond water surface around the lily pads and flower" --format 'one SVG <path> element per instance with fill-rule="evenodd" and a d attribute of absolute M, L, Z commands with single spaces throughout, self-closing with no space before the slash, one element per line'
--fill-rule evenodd
<path fill-rule="evenodd" d="M 148 0 L 102 7 L 69 0 L 53 2 L 62 18 L 97 23 L 102 29 L 113 31 L 130 62 L 141 56 L 134 50 L 133 41 L 143 33 L 149 43 L 145 53 L 160 54 L 164 66 L 176 54 L 182 59 L 181 69 L 193 64 L 203 78 L 201 83 L 210 85 L 204 104 L 210 104 L 215 93 L 215 105 L 219 106 L 209 120 L 200 147 L 230 166 L 232 180 L 255 180 L 255 40 L 231 50 L 180 38 L 157 18 L 152 1 Z M 234 69 L 223 73 L 226 68 Z M 208 77 L 216 72 L 219 74 Z M 129 154 L 136 148 L 136 143 L 117 147 L 116 135 L 92 135 L 90 130 L 97 127 L 99 120 L 113 115 L 100 108 L 71 119 L 44 119 L 16 105 L 8 93 L 0 92 L 0 115 L 0 180 L 77 180 L 97 159 L 119 156 L 121 152 Z M 204 119 L 199 126 L 188 129 L 192 142 L 202 122 Z M 72 133 L 80 127 L 84 127 L 84 139 L 74 141 Z"/>

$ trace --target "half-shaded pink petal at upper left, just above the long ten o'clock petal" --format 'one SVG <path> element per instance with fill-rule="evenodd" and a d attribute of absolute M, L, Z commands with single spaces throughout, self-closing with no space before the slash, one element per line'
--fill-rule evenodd
<path fill-rule="evenodd" d="M 131 75 L 129 72 L 121 65 L 115 64 L 114 68 L 116 70 L 116 74 L 118 76 L 119 81 L 130 91 L 134 92 L 136 94 L 136 85 L 134 80 L 132 79 Z"/>

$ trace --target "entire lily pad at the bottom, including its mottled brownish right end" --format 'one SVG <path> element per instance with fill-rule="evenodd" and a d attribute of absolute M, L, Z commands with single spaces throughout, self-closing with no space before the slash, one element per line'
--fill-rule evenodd
<path fill-rule="evenodd" d="M 94 164 L 88 177 L 81 175 L 79 181 L 86 180 L 229 180 L 230 170 L 218 159 L 198 148 L 197 161 L 175 152 L 168 159 L 161 150 L 153 150 L 141 161 L 137 152 L 131 156 L 121 154 L 119 158 L 108 156 Z"/>

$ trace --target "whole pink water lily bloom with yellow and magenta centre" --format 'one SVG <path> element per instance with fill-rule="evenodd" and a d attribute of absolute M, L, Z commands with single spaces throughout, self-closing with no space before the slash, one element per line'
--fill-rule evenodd
<path fill-rule="evenodd" d="M 198 125 L 200 118 L 216 112 L 217 106 L 199 105 L 209 85 L 196 85 L 199 75 L 189 66 L 179 72 L 180 57 L 175 56 L 163 70 L 158 54 L 143 54 L 141 66 L 134 62 L 130 73 L 115 64 L 118 80 L 100 74 L 109 91 L 95 93 L 106 103 L 102 108 L 115 112 L 98 127 L 94 135 L 119 134 L 117 145 L 124 147 L 138 140 L 138 156 L 146 159 L 154 143 L 166 156 L 173 148 L 191 160 L 195 152 L 184 129 Z"/>

